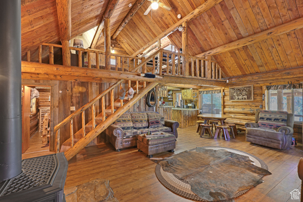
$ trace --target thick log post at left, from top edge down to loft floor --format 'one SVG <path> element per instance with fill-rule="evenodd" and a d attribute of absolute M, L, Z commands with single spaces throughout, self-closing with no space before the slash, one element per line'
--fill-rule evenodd
<path fill-rule="evenodd" d="M 59 21 L 60 38 L 62 43 L 63 65 L 71 65 L 69 40 L 72 31 L 71 0 L 56 0 Z"/>

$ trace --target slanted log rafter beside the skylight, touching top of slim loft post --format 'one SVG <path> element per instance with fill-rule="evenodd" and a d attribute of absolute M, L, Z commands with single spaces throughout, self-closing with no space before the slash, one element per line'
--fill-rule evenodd
<path fill-rule="evenodd" d="M 114 10 L 116 8 L 116 5 L 118 5 L 120 0 L 110 0 L 105 11 L 104 11 L 104 14 L 102 16 L 102 20 L 100 22 L 100 25 L 98 26 L 97 30 L 96 30 L 96 33 L 95 33 L 95 36 L 93 38 L 93 41 L 92 41 L 92 45 L 91 45 L 91 48 L 92 49 L 95 49 L 98 45 L 98 41 L 102 35 L 102 30 L 104 28 L 104 19 L 105 18 L 110 18 L 112 17 L 113 13 L 114 13 Z"/>

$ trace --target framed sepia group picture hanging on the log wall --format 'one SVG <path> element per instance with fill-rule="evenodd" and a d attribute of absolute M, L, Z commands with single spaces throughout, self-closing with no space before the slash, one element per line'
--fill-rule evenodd
<path fill-rule="evenodd" d="M 230 101 L 253 101 L 254 89 L 252 85 L 247 86 L 233 86 L 229 87 Z"/>

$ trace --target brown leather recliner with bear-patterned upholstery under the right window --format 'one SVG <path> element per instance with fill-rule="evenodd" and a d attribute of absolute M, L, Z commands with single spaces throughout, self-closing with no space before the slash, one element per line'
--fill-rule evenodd
<path fill-rule="evenodd" d="M 294 118 L 287 111 L 258 111 L 255 123 L 245 123 L 246 141 L 276 149 L 288 148 L 294 133 Z"/>

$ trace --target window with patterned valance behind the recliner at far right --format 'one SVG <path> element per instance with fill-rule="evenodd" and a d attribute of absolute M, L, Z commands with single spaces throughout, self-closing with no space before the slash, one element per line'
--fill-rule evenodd
<path fill-rule="evenodd" d="M 302 89 L 267 90 L 266 109 L 295 114 L 295 122 L 302 122 Z"/>

